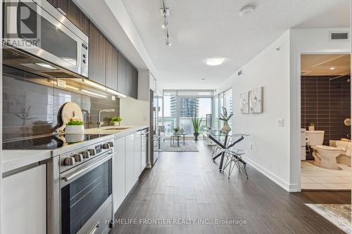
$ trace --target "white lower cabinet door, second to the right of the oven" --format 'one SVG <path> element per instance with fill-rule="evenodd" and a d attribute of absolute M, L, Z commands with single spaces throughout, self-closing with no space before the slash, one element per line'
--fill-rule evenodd
<path fill-rule="evenodd" d="M 134 183 L 137 182 L 135 173 L 135 134 L 125 136 L 125 195 L 130 193 Z"/>

